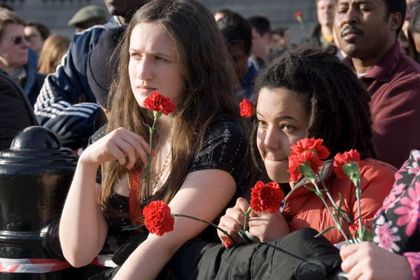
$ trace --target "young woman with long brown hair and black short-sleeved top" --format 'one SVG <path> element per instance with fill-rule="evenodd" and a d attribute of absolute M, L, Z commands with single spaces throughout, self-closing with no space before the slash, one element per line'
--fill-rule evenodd
<path fill-rule="evenodd" d="M 134 15 L 122 44 L 109 125 L 80 156 L 59 226 L 64 256 L 73 266 L 90 263 L 107 233 L 121 232 L 135 218 L 128 213 L 130 189 L 140 184 L 147 165 L 146 124 L 153 114 L 144 101 L 153 91 L 177 108 L 158 119 L 151 184 L 149 189 L 141 184 L 134 198 L 140 209 L 159 199 L 174 213 L 213 221 L 247 177 L 237 80 L 209 10 L 195 0 L 152 1 Z M 102 178 L 95 185 L 99 166 Z M 176 219 L 171 233 L 148 235 L 115 279 L 155 279 L 176 250 L 204 228 Z"/>

